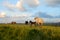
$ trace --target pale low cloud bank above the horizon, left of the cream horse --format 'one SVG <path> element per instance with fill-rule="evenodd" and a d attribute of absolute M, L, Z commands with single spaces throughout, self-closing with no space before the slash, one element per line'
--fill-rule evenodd
<path fill-rule="evenodd" d="M 17 23 L 24 23 L 26 20 L 32 20 L 32 13 L 21 13 L 14 14 L 12 16 L 5 16 L 0 19 L 0 23 L 11 23 L 12 21 L 16 21 Z"/>

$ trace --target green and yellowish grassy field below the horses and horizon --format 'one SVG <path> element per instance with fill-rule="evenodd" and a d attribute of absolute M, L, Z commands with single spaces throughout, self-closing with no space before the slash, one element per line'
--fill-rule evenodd
<path fill-rule="evenodd" d="M 60 40 L 60 27 L 0 24 L 0 40 Z"/>

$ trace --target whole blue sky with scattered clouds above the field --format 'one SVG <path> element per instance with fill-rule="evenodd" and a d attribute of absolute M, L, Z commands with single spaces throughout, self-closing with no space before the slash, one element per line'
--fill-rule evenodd
<path fill-rule="evenodd" d="M 0 23 L 20 23 L 34 17 L 60 22 L 60 0 L 0 0 Z"/>

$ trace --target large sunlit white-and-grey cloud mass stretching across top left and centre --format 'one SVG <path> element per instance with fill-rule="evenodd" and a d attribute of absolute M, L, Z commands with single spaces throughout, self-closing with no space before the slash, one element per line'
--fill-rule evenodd
<path fill-rule="evenodd" d="M 3 5 L 9 8 L 9 10 L 19 9 L 20 11 L 27 10 L 26 7 L 24 7 L 25 4 L 29 7 L 37 7 L 39 5 L 39 0 L 19 0 L 15 5 L 8 2 L 3 3 Z"/>

